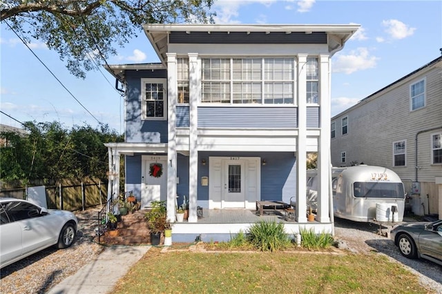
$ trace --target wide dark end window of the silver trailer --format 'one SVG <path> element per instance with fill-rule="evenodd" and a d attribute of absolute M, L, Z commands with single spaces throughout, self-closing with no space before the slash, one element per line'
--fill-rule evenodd
<path fill-rule="evenodd" d="M 395 198 L 405 197 L 403 184 L 388 182 L 354 182 L 354 197 L 360 198 Z"/>

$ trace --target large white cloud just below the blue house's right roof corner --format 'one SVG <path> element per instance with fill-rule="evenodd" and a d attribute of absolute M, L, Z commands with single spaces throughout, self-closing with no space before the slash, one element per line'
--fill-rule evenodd
<path fill-rule="evenodd" d="M 349 52 L 349 55 L 336 55 L 333 63 L 334 72 L 345 72 L 347 75 L 358 70 L 375 68 L 378 57 L 370 56 L 367 48 L 358 48 Z"/>

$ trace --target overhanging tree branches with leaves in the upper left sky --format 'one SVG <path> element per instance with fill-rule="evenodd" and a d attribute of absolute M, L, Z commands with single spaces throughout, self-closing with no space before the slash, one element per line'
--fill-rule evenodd
<path fill-rule="evenodd" d="M 66 59 L 76 77 L 97 68 L 141 31 L 144 23 L 213 22 L 213 0 L 6 0 L 0 21 L 30 42 L 40 40 Z M 95 52 L 95 53 L 93 53 Z M 92 56 L 93 55 L 93 56 Z M 98 61 L 98 62 L 97 62 Z M 100 62 L 101 61 L 101 62 Z"/>

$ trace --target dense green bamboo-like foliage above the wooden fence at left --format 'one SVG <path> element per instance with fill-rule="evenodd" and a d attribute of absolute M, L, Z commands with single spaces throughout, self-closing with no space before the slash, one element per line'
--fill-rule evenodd
<path fill-rule="evenodd" d="M 0 134 L 0 178 L 65 179 L 106 177 L 108 150 L 104 143 L 124 141 L 108 126 L 75 126 L 66 130 L 57 122 L 26 122 L 27 135 Z"/>

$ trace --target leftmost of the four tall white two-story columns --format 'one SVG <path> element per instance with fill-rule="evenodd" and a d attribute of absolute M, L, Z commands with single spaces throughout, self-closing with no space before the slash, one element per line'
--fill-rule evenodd
<path fill-rule="evenodd" d="M 167 55 L 167 219 L 175 222 L 175 197 L 177 195 L 177 149 L 176 149 L 176 106 L 177 106 L 177 55 Z"/>

